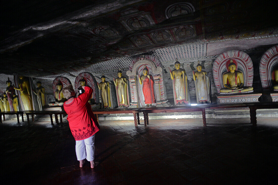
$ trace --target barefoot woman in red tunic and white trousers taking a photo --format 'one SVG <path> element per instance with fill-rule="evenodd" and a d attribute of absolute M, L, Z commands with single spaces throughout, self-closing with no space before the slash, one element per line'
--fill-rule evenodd
<path fill-rule="evenodd" d="M 88 100 L 93 90 L 87 86 L 81 86 L 84 93 L 75 97 L 75 91 L 72 85 L 63 88 L 63 95 L 68 99 L 64 103 L 64 110 L 68 114 L 69 128 L 76 141 L 75 151 L 80 167 L 83 167 L 85 158 L 90 161 L 91 168 L 96 166 L 95 159 L 95 133 L 99 131 L 100 126 L 91 109 Z"/>

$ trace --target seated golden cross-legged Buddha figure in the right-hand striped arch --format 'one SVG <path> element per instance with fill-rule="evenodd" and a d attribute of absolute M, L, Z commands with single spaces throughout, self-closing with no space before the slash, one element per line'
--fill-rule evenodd
<path fill-rule="evenodd" d="M 220 89 L 220 93 L 242 93 L 253 90 L 253 87 L 243 86 L 243 73 L 235 69 L 236 65 L 231 59 L 229 64 L 229 71 L 223 74 L 224 88 Z"/>

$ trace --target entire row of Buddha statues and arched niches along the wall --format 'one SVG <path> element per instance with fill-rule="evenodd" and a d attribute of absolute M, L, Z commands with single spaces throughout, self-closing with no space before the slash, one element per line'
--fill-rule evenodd
<path fill-rule="evenodd" d="M 218 103 L 257 102 L 261 95 L 278 101 L 278 62 L 275 56 L 278 54 L 278 45 L 265 52 L 260 61 L 260 77 L 263 90 L 269 93 L 253 92 L 253 64 L 249 55 L 242 51 L 231 50 L 219 55 L 213 63 L 213 77 L 217 93 Z M 181 68 L 178 60 L 174 64 L 175 69 L 170 71 L 173 82 L 173 97 L 175 105 L 190 104 L 188 78 L 185 69 Z M 127 78 L 119 69 L 118 77 L 113 78 L 113 83 L 106 81 L 103 74 L 101 82 L 97 82 L 90 73 L 80 73 L 75 80 L 75 89 L 83 85 L 93 88 L 93 94 L 89 102 L 100 102 L 102 108 L 124 107 L 152 107 L 171 106 L 166 98 L 164 74 L 162 64 L 152 55 L 138 56 L 130 63 L 126 72 Z M 207 72 L 198 62 L 197 70 L 193 70 L 193 80 L 197 103 L 211 103 L 211 83 Z M 16 81 L 17 79 L 17 81 Z M 37 88 L 30 88 L 28 77 L 15 78 L 17 87 L 11 80 L 6 81 L 6 91 L 0 96 L 0 109 L 3 111 L 33 110 L 31 91 L 37 97 L 39 110 L 47 105 L 50 107 L 62 106 L 66 101 L 62 88 L 71 84 L 65 77 L 57 77 L 53 81 L 54 102 L 45 104 L 45 89 L 41 82 L 36 82 Z M 18 96 L 15 93 L 18 90 Z M 19 98 L 19 99 L 18 99 Z"/>

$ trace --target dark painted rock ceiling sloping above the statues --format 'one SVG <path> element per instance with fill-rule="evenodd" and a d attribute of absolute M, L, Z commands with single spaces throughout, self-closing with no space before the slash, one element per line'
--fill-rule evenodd
<path fill-rule="evenodd" d="M 166 57 L 168 60 L 179 58 L 181 52 L 187 53 L 183 59 L 208 57 L 220 54 L 223 48 L 233 48 L 225 40 L 238 41 L 232 45 L 241 49 L 278 43 L 277 3 L 272 1 L 5 3 L 1 7 L 5 16 L 0 23 L 0 73 L 7 75 L 43 78 L 84 70 L 93 64 L 100 64 L 98 70 L 103 71 L 101 64 L 109 66 L 109 61 L 114 63 L 106 69 L 117 70 L 134 55 L 167 55 L 167 50 L 175 53 Z M 245 42 L 264 37 L 274 39 Z"/>

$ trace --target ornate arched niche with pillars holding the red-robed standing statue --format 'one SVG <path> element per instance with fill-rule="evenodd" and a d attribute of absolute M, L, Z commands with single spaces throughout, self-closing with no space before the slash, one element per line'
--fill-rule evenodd
<path fill-rule="evenodd" d="M 128 69 L 131 108 L 171 106 L 166 98 L 162 65 L 156 57 L 138 56 L 130 62 Z"/>

